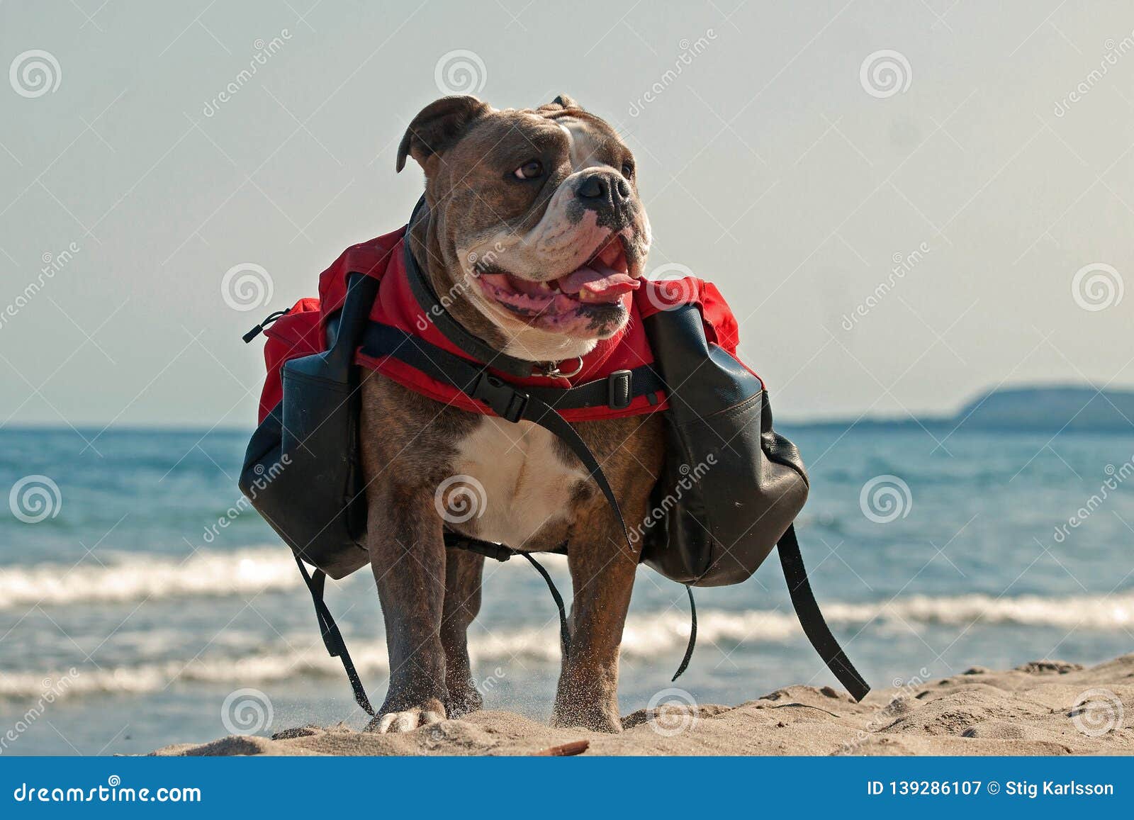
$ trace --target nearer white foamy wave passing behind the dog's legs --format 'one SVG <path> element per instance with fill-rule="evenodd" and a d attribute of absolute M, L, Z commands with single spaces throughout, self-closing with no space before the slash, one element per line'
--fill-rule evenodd
<path fill-rule="evenodd" d="M 284 564 L 291 572 L 287 574 L 287 580 L 280 578 L 279 583 L 281 586 L 293 585 L 290 575 L 296 574 L 294 565 Z M 261 589 L 264 583 L 263 567 L 251 573 L 245 581 L 229 578 L 229 583 L 236 585 L 249 583 L 253 584 L 251 589 Z M 823 610 L 830 624 L 852 632 L 857 632 L 866 625 L 872 629 L 887 626 L 916 629 L 933 624 L 966 627 L 973 623 L 1051 626 L 1067 629 L 1124 629 L 1129 628 L 1134 620 L 1134 591 L 1114 595 L 1063 598 L 911 595 L 886 603 L 831 602 L 827 603 Z M 738 612 L 709 609 L 700 612 L 697 620 L 697 637 L 703 643 L 782 643 L 803 640 L 795 614 L 789 609 Z M 660 653 L 677 652 L 684 648 L 688 631 L 688 619 L 679 611 L 634 615 L 626 623 L 623 654 L 627 658 L 653 660 Z M 388 671 L 384 642 L 352 639 L 349 644 L 350 654 L 361 674 L 378 678 Z M 341 678 L 342 668 L 338 660 L 327 657 L 316 636 L 311 634 L 298 639 L 291 636 L 286 645 L 288 648 L 248 651 L 244 654 L 227 652 L 223 657 L 201 656 L 188 660 L 163 660 L 99 669 L 84 668 L 76 675 L 67 676 L 69 683 L 60 696 L 98 693 L 144 694 L 185 683 L 255 685 L 301 677 Z M 507 666 L 514 661 L 557 663 L 558 629 L 555 623 L 549 623 L 543 628 L 493 627 L 491 633 L 471 639 L 469 653 L 474 661 L 481 665 Z M 0 676 L 0 699 L 36 698 L 43 694 L 50 680 L 59 680 L 62 677 L 65 675 L 61 673 L 45 675 L 8 670 L 6 675 Z"/>

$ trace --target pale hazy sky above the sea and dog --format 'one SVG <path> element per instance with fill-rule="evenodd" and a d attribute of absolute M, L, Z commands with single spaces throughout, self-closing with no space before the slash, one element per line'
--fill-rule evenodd
<path fill-rule="evenodd" d="M 719 284 L 781 419 L 1134 383 L 1128 0 L 10 0 L 8 67 L 7 424 L 251 424 L 240 333 L 405 221 L 446 86 L 615 124 L 649 268 Z"/>

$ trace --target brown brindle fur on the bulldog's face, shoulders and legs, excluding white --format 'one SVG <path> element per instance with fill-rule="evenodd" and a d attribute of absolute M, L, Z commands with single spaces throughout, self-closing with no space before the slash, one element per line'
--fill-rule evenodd
<path fill-rule="evenodd" d="M 429 209 L 412 227 L 411 239 L 439 294 L 452 291 L 459 281 L 455 248 L 467 246 L 468 237 L 498 229 L 501 214 L 517 225 L 531 225 L 547 206 L 545 200 L 516 200 L 509 193 L 511 186 L 494 184 L 499 175 L 493 169 L 480 167 L 492 141 L 507 144 L 516 138 L 511 136 L 515 117 L 532 112 L 498 112 L 472 98 L 456 100 L 438 101 L 415 119 L 399 158 L 400 163 L 409 153 L 426 172 Z M 601 122 L 583 115 L 574 102 L 565 102 L 566 109 L 556 104 L 538 112 L 552 117 L 569 109 Z M 477 127 L 467 140 L 462 138 L 471 124 Z M 613 132 L 602 126 L 609 150 L 617 149 L 610 161 L 628 154 Z M 458 181 L 460 174 L 472 179 Z M 509 329 L 468 304 L 459 288 L 448 306 L 468 330 L 498 349 L 503 345 Z M 596 336 L 609 336 L 621 323 Z M 389 691 L 372 728 L 408 730 L 481 705 L 471 679 L 466 632 L 480 609 L 484 559 L 464 550 L 446 550 L 434 493 L 455 473 L 460 442 L 484 419 L 371 373 L 362 386 L 361 423 L 367 546 L 390 654 Z M 646 514 L 661 468 L 661 420 L 645 415 L 574 426 L 602 464 L 633 527 Z M 565 445 L 558 445 L 556 453 L 565 464 L 577 465 Z M 564 518 L 544 523 L 527 543 L 510 546 L 542 551 L 568 544 L 572 646 L 562 663 L 553 722 L 618 732 L 618 646 L 641 543 L 627 546 L 592 481 L 576 482 L 564 506 L 568 509 Z M 475 535 L 475 525 L 473 519 L 455 529 Z"/>

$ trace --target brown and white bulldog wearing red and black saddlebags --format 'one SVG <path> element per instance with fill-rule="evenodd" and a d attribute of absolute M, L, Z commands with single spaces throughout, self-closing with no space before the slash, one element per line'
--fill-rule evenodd
<path fill-rule="evenodd" d="M 651 234 L 634 157 L 610 125 L 567 96 L 534 110 L 448 96 L 409 124 L 398 171 L 407 158 L 425 172 L 407 240 L 467 331 L 517 358 L 570 366 L 625 328 Z M 518 550 L 569 546 L 570 651 L 552 722 L 620 732 L 618 648 L 641 543 L 626 542 L 582 463 L 527 421 L 466 413 L 378 373 L 361 390 L 366 547 L 390 657 L 389 691 L 369 729 L 412 732 L 482 705 L 466 634 L 484 557 L 447 550 L 448 527 Z M 661 470 L 661 420 L 574 426 L 626 521 L 642 521 Z M 442 488 L 452 476 L 484 489 L 479 516 L 452 517 L 463 523 L 439 515 L 439 488 L 441 504 L 462 502 L 459 484 Z"/>

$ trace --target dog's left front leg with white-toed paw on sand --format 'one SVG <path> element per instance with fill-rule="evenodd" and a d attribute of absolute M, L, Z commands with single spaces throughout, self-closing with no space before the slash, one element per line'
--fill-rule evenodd
<path fill-rule="evenodd" d="M 367 547 L 386 620 L 390 687 L 367 729 L 413 732 L 446 717 L 441 519 L 423 491 L 374 494 Z"/>

